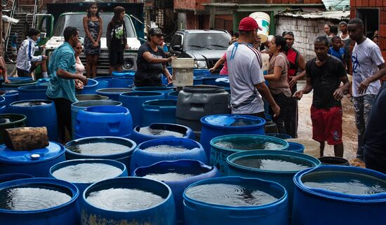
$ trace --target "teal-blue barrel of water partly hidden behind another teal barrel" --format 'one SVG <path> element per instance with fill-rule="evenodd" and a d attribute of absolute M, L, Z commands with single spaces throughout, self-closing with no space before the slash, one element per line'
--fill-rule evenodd
<path fill-rule="evenodd" d="M 201 135 L 202 136 L 202 135 Z M 239 151 L 287 150 L 288 143 L 265 135 L 225 135 L 211 140 L 211 163 L 227 175 L 227 157 Z"/>

